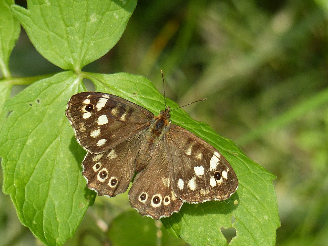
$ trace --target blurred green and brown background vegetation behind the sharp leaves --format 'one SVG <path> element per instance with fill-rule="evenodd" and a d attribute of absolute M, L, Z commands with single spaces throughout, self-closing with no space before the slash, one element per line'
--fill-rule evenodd
<path fill-rule="evenodd" d="M 24 1 L 16 3 L 26 7 Z M 277 175 L 277 245 L 324 246 L 327 17 L 325 0 L 140 0 L 118 44 L 84 71 L 141 74 L 163 92 L 163 70 L 167 97 L 180 105 L 206 97 L 184 109 Z M 37 53 L 23 30 L 10 69 L 18 77 L 60 71 Z M 22 87 L 14 87 L 13 93 L 19 90 Z M 89 222 L 83 223 L 93 221 L 106 231 L 116 216 L 130 209 L 126 197 L 97 198 L 87 212 Z M 93 232 L 83 223 L 74 240 L 89 245 L 83 237 Z M 19 223 L 3 193 L 0 235 L 0 245 L 40 245 Z M 96 237 L 99 245 L 106 241 Z"/>

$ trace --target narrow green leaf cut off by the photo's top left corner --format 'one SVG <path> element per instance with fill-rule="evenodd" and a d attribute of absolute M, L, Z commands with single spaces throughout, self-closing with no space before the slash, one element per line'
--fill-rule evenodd
<path fill-rule="evenodd" d="M 0 0 L 0 68 L 6 78 L 10 77 L 9 57 L 20 33 L 19 22 L 10 10 L 10 5 L 14 3 L 14 0 Z"/>

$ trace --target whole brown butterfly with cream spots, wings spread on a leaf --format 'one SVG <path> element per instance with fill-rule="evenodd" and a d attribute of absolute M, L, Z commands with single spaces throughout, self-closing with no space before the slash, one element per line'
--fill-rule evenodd
<path fill-rule="evenodd" d="M 88 187 L 100 196 L 127 191 L 131 206 L 154 219 L 171 216 L 184 202 L 229 198 L 238 187 L 229 162 L 212 145 L 172 124 L 170 106 L 154 116 L 116 95 L 73 95 L 66 116 L 79 144 Z"/>

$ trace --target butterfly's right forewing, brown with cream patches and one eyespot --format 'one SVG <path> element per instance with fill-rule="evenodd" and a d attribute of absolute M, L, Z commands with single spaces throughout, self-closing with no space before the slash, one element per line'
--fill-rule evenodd
<path fill-rule="evenodd" d="M 188 203 L 229 198 L 238 179 L 224 156 L 188 130 L 169 127 L 166 151 L 174 193 Z"/>

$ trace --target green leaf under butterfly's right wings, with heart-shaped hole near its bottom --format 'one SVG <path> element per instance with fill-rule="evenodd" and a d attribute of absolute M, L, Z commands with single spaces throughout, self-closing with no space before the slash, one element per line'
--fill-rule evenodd
<path fill-rule="evenodd" d="M 165 107 L 163 96 L 143 76 L 128 73 L 88 73 L 86 76 L 97 91 L 124 97 L 155 115 Z M 166 102 L 172 108 L 178 106 L 171 100 Z M 220 229 L 233 227 L 236 237 L 230 245 L 275 245 L 276 230 L 280 226 L 272 183 L 275 175 L 250 160 L 231 140 L 217 135 L 207 124 L 193 120 L 182 109 L 171 115 L 173 123 L 200 136 L 226 157 L 237 174 L 239 187 L 226 201 L 185 203 L 179 213 L 162 219 L 167 230 L 191 245 L 226 245 Z"/>

